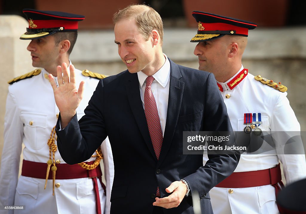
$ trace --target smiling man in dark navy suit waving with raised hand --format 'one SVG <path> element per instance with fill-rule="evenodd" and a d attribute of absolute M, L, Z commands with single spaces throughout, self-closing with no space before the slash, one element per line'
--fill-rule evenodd
<path fill-rule="evenodd" d="M 114 156 L 111 213 L 193 213 L 193 191 L 202 213 L 212 213 L 208 191 L 229 176 L 240 155 L 183 154 L 183 131 L 231 131 L 213 74 L 182 67 L 162 53 L 159 14 L 131 5 L 114 16 L 115 43 L 128 70 L 99 82 L 78 122 L 73 66 L 58 67 L 52 81 L 60 117 L 58 149 L 67 163 L 88 157 L 106 136 Z M 62 77 L 63 72 L 63 79 Z M 168 209 L 164 209 L 168 208 Z M 171 208 L 171 209 L 169 209 Z"/>

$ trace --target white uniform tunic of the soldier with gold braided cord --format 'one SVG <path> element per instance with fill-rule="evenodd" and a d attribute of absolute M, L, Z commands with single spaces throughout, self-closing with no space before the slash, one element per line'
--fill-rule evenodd
<path fill-rule="evenodd" d="M 80 119 L 84 115 L 84 109 L 99 80 L 83 76 L 80 70 L 75 72 L 76 85 L 85 81 L 84 98 L 76 110 L 77 117 Z M 25 206 L 23 210 L 15 210 L 15 213 L 96 213 L 95 191 L 91 178 L 55 180 L 55 183 L 59 183 L 60 187 L 55 187 L 54 196 L 52 195 L 52 179 L 48 180 L 45 190 L 45 179 L 25 176 L 20 176 L 18 179 L 22 143 L 25 146 L 24 160 L 41 163 L 47 163 L 49 160 L 47 141 L 57 122 L 59 110 L 55 104 L 53 89 L 47 78 L 48 74 L 43 69 L 41 74 L 9 86 L 0 174 L 0 203 L 8 206 Z M 57 78 L 55 81 L 57 82 Z M 55 144 L 57 144 L 56 140 Z M 105 213 L 109 213 L 114 165 L 108 138 L 101 147 L 105 164 L 107 200 L 98 181 L 99 195 L 102 213 L 104 210 Z M 55 160 L 65 163 L 58 150 L 55 153 Z M 93 160 L 95 160 L 94 157 L 89 159 L 89 161 Z M 43 173 L 46 172 L 47 167 Z M 0 211 L 0 213 L 2 212 L 8 213 L 8 211 Z M 13 213 L 13 210 L 9 213 Z"/>

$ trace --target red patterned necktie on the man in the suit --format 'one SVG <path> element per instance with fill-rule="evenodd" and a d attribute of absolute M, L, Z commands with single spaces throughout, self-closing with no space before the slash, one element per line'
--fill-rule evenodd
<path fill-rule="evenodd" d="M 146 115 L 151 141 L 158 160 L 160 150 L 162 149 L 163 137 L 155 98 L 151 91 L 153 81 L 154 77 L 152 76 L 148 76 L 146 79 L 146 88 L 144 89 L 144 114 Z M 159 187 L 157 187 L 156 197 L 160 197 Z"/>

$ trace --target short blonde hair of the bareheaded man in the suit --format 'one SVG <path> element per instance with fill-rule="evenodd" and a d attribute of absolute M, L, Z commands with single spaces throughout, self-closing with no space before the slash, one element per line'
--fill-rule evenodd
<path fill-rule="evenodd" d="M 162 38 L 164 35 L 162 18 L 153 8 L 147 5 L 129 5 L 114 14 L 113 23 L 125 19 L 135 19 L 140 34 L 146 41 L 149 39 L 152 30 L 156 30 L 160 36 L 160 45 L 162 46 Z"/>

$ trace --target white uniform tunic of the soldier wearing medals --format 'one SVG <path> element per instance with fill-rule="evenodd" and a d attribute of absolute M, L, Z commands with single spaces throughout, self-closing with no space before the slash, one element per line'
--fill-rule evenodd
<path fill-rule="evenodd" d="M 237 74 L 242 70 L 243 67 Z M 287 92 L 280 92 L 255 80 L 252 74 L 247 74 L 241 82 L 238 81 L 237 85 L 230 89 L 227 83 L 234 78 L 238 79 L 240 75 L 237 76 L 237 74 L 225 83 L 218 82 L 223 88 L 221 94 L 227 107 L 233 131 L 243 131 L 246 126 L 244 124 L 244 113 L 261 113 L 263 124 L 259 128 L 268 133 L 300 131 L 300 125 L 286 97 Z M 274 135 L 273 137 L 276 146 L 279 146 L 278 142 L 284 143 L 285 139 L 280 139 L 280 136 Z M 277 153 L 242 154 L 234 172 L 269 169 L 275 167 L 281 161 L 287 184 L 306 176 L 304 154 Z M 203 159 L 205 164 L 208 160 L 207 155 L 204 155 Z M 233 192 L 229 191 L 230 189 Z M 271 185 L 247 188 L 214 187 L 209 194 L 213 211 L 216 214 L 278 213 L 275 188 Z"/>

